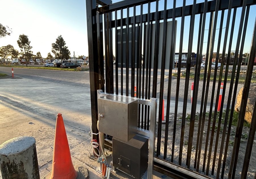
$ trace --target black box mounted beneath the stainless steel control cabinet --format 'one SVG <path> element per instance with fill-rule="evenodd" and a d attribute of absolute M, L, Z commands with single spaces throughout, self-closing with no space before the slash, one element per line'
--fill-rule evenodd
<path fill-rule="evenodd" d="M 141 178 L 148 168 L 148 139 L 136 135 L 128 142 L 112 138 L 113 166 Z"/>

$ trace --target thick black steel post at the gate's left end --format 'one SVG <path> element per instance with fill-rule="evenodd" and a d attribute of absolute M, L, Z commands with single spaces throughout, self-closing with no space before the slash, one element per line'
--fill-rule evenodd
<path fill-rule="evenodd" d="M 86 0 L 86 16 L 87 16 L 87 34 L 88 34 L 88 52 L 90 56 L 90 96 L 91 96 L 91 112 L 92 112 L 92 132 L 97 133 L 98 121 L 98 95 L 97 90 L 100 89 L 99 85 L 99 64 L 98 64 L 98 44 L 97 37 L 97 6 L 96 0 Z M 98 140 L 98 136 L 93 134 L 93 138 Z"/>

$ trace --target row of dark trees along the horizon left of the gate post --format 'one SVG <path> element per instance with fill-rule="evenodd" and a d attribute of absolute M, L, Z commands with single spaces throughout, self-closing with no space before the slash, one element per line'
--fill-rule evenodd
<path fill-rule="evenodd" d="M 10 36 L 12 33 L 11 29 L 8 26 L 3 26 L 0 24 L 0 38 L 5 36 Z M 33 54 L 32 46 L 30 45 L 30 40 L 28 36 L 21 34 L 17 40 L 17 44 L 20 48 L 20 52 L 14 49 L 13 45 L 6 45 L 0 47 L 0 57 L 1 63 L 3 63 L 3 59 L 7 57 L 11 58 L 19 58 L 26 60 L 26 66 L 30 59 L 42 59 L 42 55 L 40 52 L 37 52 L 36 55 Z M 70 58 L 70 51 L 66 46 L 66 42 L 63 37 L 60 35 L 56 38 L 55 43 L 51 44 L 51 52 L 55 55 L 55 59 L 69 59 Z M 49 52 L 46 59 L 53 59 L 53 56 Z"/>

